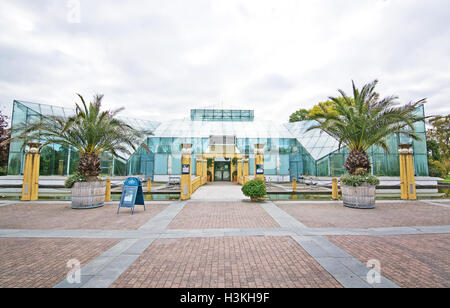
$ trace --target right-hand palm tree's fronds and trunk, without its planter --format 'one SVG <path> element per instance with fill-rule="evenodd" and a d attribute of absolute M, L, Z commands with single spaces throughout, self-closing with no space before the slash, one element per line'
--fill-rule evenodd
<path fill-rule="evenodd" d="M 393 133 L 401 133 L 413 140 L 420 140 L 415 133 L 414 123 L 424 118 L 415 114 L 415 110 L 426 99 L 397 106 L 397 96 L 389 96 L 380 100 L 375 92 L 378 80 L 366 84 L 358 90 L 353 84 L 353 97 L 338 90 L 342 97 L 330 97 L 334 102 L 332 111 L 320 106 L 322 113 L 312 117 L 318 122 L 309 130 L 320 128 L 339 141 L 350 152 L 345 169 L 352 175 L 370 172 L 370 159 L 367 150 L 371 146 L 379 146 L 389 153 L 386 137 Z"/>

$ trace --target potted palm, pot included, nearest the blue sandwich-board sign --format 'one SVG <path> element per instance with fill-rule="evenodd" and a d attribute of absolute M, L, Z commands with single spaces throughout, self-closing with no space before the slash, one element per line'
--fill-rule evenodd
<path fill-rule="evenodd" d="M 66 181 L 66 185 L 73 186 L 72 208 L 88 209 L 104 205 L 106 185 L 98 177 L 100 155 L 107 152 L 116 157 L 118 153 L 129 154 L 130 149 L 135 151 L 143 132 L 117 119 L 123 108 L 102 111 L 103 95 L 95 96 L 89 106 L 81 95 L 78 96 L 82 104 L 76 104 L 74 116 L 42 117 L 40 121 L 24 126 L 19 138 L 43 140 L 43 146 L 59 144 L 78 152 L 77 173 Z"/>

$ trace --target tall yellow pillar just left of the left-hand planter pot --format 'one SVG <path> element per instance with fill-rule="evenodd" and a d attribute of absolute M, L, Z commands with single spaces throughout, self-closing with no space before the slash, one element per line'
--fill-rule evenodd
<path fill-rule="evenodd" d="M 29 150 L 25 158 L 21 200 L 36 201 L 39 199 L 40 144 L 30 143 L 28 146 Z"/>

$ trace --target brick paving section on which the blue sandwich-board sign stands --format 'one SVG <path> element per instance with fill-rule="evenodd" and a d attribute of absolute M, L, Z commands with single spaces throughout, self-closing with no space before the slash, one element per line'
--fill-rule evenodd
<path fill-rule="evenodd" d="M 102 208 L 73 210 L 70 204 L 15 204 L 0 208 L 0 229 L 55 229 L 55 230 L 135 230 L 167 207 L 147 205 L 147 210 L 136 206 L 130 209 L 107 204 Z"/>

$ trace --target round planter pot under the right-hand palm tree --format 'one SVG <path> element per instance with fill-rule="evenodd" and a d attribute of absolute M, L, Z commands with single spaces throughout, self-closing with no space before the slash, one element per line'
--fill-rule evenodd
<path fill-rule="evenodd" d="M 376 186 L 364 184 L 359 187 L 342 185 L 344 206 L 355 209 L 374 209 Z"/>

